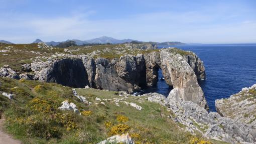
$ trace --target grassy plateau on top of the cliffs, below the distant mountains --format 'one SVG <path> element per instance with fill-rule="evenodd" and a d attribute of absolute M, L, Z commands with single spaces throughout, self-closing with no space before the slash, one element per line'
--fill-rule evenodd
<path fill-rule="evenodd" d="M 120 58 L 125 54 L 148 54 L 151 52 L 159 52 L 156 50 L 141 50 L 141 49 L 129 49 L 124 44 L 116 45 L 94 45 L 94 46 L 71 46 L 66 48 L 54 47 L 53 49 L 41 49 L 38 48 L 38 44 L 4 44 L 0 43 L 0 51 L 8 50 L 8 52 L 0 53 L 0 67 L 4 65 L 10 65 L 13 70 L 21 71 L 21 66 L 26 63 L 32 63 L 34 59 L 40 57 L 42 61 L 46 61 L 45 57 L 50 57 L 56 53 L 63 54 L 89 54 L 93 58 L 99 57 L 106 59 Z M 171 52 L 179 53 L 181 55 L 193 54 L 188 51 L 180 49 L 172 49 Z M 61 58 L 61 57 L 58 57 Z"/>

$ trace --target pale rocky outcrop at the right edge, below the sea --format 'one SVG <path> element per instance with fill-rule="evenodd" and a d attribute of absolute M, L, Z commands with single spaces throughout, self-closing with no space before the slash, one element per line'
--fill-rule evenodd
<path fill-rule="evenodd" d="M 256 84 L 229 98 L 217 99 L 215 106 L 220 115 L 256 127 Z"/>

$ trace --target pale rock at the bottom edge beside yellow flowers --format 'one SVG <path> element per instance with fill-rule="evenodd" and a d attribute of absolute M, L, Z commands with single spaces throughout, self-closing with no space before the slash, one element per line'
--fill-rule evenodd
<path fill-rule="evenodd" d="M 97 144 L 105 144 L 105 143 L 112 143 L 112 142 L 116 142 L 116 143 L 125 143 L 125 144 L 134 144 L 134 141 L 132 139 L 132 137 L 129 135 L 129 133 L 126 134 L 122 134 L 122 135 L 114 135 L 111 137 L 108 137 L 106 140 L 103 140 Z"/>

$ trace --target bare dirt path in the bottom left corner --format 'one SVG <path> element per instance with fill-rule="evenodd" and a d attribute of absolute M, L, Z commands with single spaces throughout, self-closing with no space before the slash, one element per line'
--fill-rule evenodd
<path fill-rule="evenodd" d="M 2 115 L 0 119 L 0 144 L 12 143 L 12 144 L 21 144 L 22 142 L 14 139 L 10 134 L 7 134 L 3 130 L 5 117 Z"/>

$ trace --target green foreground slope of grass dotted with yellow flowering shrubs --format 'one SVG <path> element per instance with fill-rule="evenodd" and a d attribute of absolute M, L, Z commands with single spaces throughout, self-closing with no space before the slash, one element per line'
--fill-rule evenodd
<path fill-rule="evenodd" d="M 189 143 L 202 139 L 179 128 L 168 117 L 166 107 L 149 102 L 145 97 L 123 100 L 142 106 L 137 110 L 113 98 L 123 98 L 114 91 L 76 89 L 80 96 L 92 102 L 80 102 L 70 87 L 39 81 L 0 78 L 0 91 L 14 93 L 14 99 L 0 96 L 0 110 L 6 116 L 5 129 L 24 143 L 97 143 L 114 134 L 129 132 L 136 143 Z M 111 99 L 96 101 L 98 97 Z M 82 115 L 59 110 L 61 102 L 76 104 Z M 221 143 L 214 141 L 215 143 Z"/>

